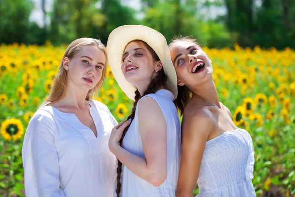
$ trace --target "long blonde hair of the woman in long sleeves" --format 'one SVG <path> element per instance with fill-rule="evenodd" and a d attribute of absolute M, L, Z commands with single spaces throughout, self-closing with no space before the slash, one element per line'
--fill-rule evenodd
<path fill-rule="evenodd" d="M 63 67 L 63 60 L 65 57 L 68 57 L 69 59 L 73 58 L 77 53 L 79 53 L 84 46 L 97 46 L 98 49 L 102 50 L 104 52 L 104 55 L 106 57 L 105 66 L 102 70 L 102 76 L 97 85 L 90 89 L 86 95 L 86 100 L 93 99 L 94 93 L 96 90 L 99 90 L 106 78 L 107 74 L 107 51 L 105 46 L 101 43 L 100 40 L 94 39 L 94 38 L 79 38 L 74 40 L 66 49 L 64 52 L 64 55 L 60 61 L 59 65 L 59 71 L 56 75 L 56 77 L 53 79 L 51 84 L 51 90 L 47 96 L 47 98 L 44 100 L 44 102 L 41 104 L 42 106 L 47 106 L 53 102 L 58 102 L 59 100 L 63 99 L 67 92 L 67 71 Z"/>

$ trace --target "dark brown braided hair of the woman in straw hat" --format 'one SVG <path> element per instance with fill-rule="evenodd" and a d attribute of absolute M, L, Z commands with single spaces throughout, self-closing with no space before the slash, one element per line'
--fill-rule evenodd
<path fill-rule="evenodd" d="M 160 60 L 159 57 L 158 57 L 158 55 L 156 54 L 156 52 L 146 42 L 144 42 L 142 40 L 133 40 L 131 42 L 136 42 L 138 45 L 144 46 L 145 48 L 147 48 L 148 51 L 151 52 L 152 57 L 153 57 L 153 59 L 155 61 L 159 61 Z M 150 82 L 147 90 L 144 92 L 143 95 L 140 95 L 139 91 L 136 90 L 135 91 L 135 97 L 134 97 L 135 101 L 133 103 L 133 108 L 132 108 L 131 114 L 128 116 L 127 120 L 129 118 L 131 118 L 132 120 L 134 119 L 134 117 L 135 117 L 135 110 L 136 110 L 137 102 L 139 101 L 139 99 L 142 98 L 145 95 L 148 95 L 148 94 L 151 94 L 151 93 L 155 93 L 160 86 L 162 86 L 162 85 L 164 85 L 166 83 L 166 81 L 167 81 L 167 76 L 164 73 L 164 69 L 161 69 L 161 70 L 158 71 L 157 76 L 154 79 L 151 80 L 151 82 Z M 122 138 L 120 140 L 120 145 L 122 145 L 122 141 L 123 141 L 123 139 L 124 139 L 124 137 L 125 137 L 128 129 L 129 129 L 129 126 L 126 127 L 125 130 L 123 131 L 123 135 L 122 135 Z M 120 196 L 120 193 L 121 193 L 121 186 L 122 186 L 121 185 L 121 173 L 122 173 L 122 163 L 118 160 L 118 164 L 117 164 L 117 185 L 116 185 L 116 194 L 117 194 L 117 197 L 119 197 Z"/>

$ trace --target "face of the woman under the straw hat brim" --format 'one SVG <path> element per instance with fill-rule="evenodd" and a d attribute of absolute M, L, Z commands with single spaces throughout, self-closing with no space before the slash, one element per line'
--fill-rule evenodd
<path fill-rule="evenodd" d="M 159 61 L 154 61 L 152 54 L 146 47 L 137 42 L 130 42 L 124 51 L 122 72 L 126 80 L 139 87 L 147 87 L 156 76 L 155 70 L 160 70 Z"/>

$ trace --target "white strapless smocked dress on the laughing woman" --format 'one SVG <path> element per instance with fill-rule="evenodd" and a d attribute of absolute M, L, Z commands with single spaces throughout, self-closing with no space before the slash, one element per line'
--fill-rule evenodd
<path fill-rule="evenodd" d="M 255 197 L 253 167 L 253 144 L 246 130 L 228 131 L 208 140 L 197 197 Z"/>

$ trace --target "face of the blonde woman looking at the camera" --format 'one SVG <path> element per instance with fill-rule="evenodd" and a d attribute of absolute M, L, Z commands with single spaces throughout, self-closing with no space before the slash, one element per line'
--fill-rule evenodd
<path fill-rule="evenodd" d="M 68 69 L 67 86 L 89 91 L 100 81 L 106 57 L 96 46 L 83 46 L 71 59 L 65 57 L 63 67 Z"/>

